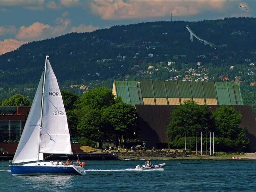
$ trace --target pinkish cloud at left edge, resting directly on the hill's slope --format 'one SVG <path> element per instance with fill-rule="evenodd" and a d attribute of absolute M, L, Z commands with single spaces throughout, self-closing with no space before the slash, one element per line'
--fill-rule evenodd
<path fill-rule="evenodd" d="M 0 55 L 6 52 L 13 51 L 19 48 L 24 43 L 26 42 L 18 41 L 16 39 L 4 39 L 4 41 L 0 41 Z"/>

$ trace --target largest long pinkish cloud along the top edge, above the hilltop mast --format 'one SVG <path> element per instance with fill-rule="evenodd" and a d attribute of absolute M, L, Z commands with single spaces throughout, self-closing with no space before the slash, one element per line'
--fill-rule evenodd
<path fill-rule="evenodd" d="M 105 20 L 137 19 L 148 17 L 188 16 L 200 11 L 225 9 L 226 1 L 196 0 L 196 1 L 92 1 L 92 13 Z"/>

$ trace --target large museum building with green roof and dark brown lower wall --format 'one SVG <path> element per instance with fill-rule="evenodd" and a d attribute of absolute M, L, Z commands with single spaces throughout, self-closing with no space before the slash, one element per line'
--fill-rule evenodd
<path fill-rule="evenodd" d="M 114 81 L 113 94 L 135 106 L 140 116 L 140 140 L 149 148 L 167 147 L 170 113 L 185 100 L 216 110 L 234 106 L 243 115 L 240 127 L 246 131 L 251 150 L 256 151 L 256 122 L 251 106 L 244 106 L 238 82 Z"/>

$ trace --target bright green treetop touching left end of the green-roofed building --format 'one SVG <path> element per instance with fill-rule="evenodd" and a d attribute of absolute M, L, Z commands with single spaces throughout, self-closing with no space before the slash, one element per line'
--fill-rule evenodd
<path fill-rule="evenodd" d="M 83 94 L 76 102 L 77 108 L 97 108 L 108 107 L 115 103 L 115 96 L 112 90 L 107 87 L 97 87 Z"/>

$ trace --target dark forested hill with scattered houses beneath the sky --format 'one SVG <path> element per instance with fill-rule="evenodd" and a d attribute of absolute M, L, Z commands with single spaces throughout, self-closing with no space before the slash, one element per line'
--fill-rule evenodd
<path fill-rule="evenodd" d="M 191 42 L 186 25 L 197 36 L 217 46 L 204 45 L 195 37 Z M 249 64 L 256 60 L 255 26 L 256 18 L 226 18 L 146 22 L 91 33 L 70 33 L 24 44 L 16 51 L 1 55 L 0 86 L 2 90 L 34 88 L 42 73 L 45 55 L 50 56 L 59 83 L 67 87 L 89 82 L 97 86 L 105 80 L 105 84 L 111 86 L 113 79 L 124 78 L 170 80 L 178 76 L 179 80 L 185 74 L 181 71 L 197 68 L 198 61 L 208 70 L 209 81 L 213 77 L 216 81 L 221 74 L 228 74 L 229 81 L 238 75 L 246 80 Z M 171 68 L 175 70 L 164 70 L 168 61 L 173 61 Z M 153 72 L 148 72 L 150 65 L 155 68 Z M 231 65 L 235 66 L 233 71 L 229 70 Z"/>

